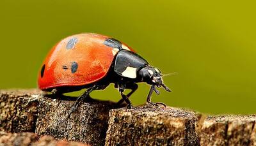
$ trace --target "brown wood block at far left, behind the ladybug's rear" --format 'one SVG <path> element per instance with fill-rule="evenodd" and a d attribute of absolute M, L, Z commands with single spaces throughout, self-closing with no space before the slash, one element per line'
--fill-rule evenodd
<path fill-rule="evenodd" d="M 40 91 L 0 90 L 0 131 L 35 132 Z"/>

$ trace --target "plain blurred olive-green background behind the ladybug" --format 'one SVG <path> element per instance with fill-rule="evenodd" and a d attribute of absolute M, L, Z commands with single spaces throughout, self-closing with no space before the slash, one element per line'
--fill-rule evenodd
<path fill-rule="evenodd" d="M 254 1 L 1 0 L 0 88 L 35 88 L 49 49 L 72 34 L 113 36 L 157 66 L 173 92 L 153 101 L 205 113 L 255 113 Z M 145 103 L 140 84 L 134 105 Z M 113 85 L 92 93 L 117 101 Z M 104 97 L 104 98 L 102 98 Z"/>

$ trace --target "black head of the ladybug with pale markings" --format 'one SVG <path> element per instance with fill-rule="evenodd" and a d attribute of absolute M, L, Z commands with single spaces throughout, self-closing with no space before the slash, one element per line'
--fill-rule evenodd
<path fill-rule="evenodd" d="M 164 85 L 161 71 L 152 66 L 145 66 L 138 72 L 141 82 L 147 82 L 150 85 L 156 85 L 157 87 L 163 87 L 166 91 L 171 91 L 166 85 Z"/>

